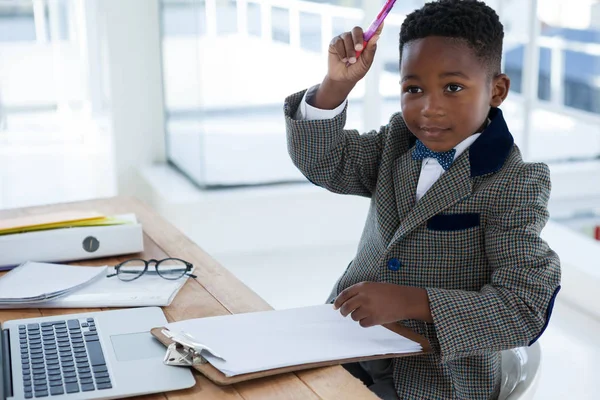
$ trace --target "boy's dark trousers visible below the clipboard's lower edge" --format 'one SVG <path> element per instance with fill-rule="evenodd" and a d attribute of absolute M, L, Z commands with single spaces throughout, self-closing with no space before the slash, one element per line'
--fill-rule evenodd
<path fill-rule="evenodd" d="M 374 360 L 344 364 L 343 367 L 360 379 L 373 393 L 383 400 L 399 400 L 392 376 L 392 360 Z"/>

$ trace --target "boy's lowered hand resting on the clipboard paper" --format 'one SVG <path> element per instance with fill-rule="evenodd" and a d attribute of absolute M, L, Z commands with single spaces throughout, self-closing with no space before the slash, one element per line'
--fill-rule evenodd
<path fill-rule="evenodd" d="M 365 328 L 403 319 L 433 322 L 427 291 L 412 286 L 361 282 L 341 292 L 333 305 Z"/>

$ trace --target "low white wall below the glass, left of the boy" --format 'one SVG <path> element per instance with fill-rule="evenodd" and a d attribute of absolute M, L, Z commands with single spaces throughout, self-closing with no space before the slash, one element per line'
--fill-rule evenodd
<path fill-rule="evenodd" d="M 142 176 L 140 196 L 210 254 L 355 244 L 369 206 L 310 184 L 203 192 L 168 166 Z"/>

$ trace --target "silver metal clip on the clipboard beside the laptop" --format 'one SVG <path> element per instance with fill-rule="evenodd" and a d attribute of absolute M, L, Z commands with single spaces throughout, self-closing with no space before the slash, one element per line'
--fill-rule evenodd
<path fill-rule="evenodd" d="M 173 343 L 167 347 L 167 353 L 165 354 L 165 358 L 163 360 L 166 365 L 193 366 L 206 364 L 208 361 L 202 356 L 201 353 L 203 351 L 209 353 L 213 357 L 225 360 L 207 346 L 204 346 L 202 343 L 198 343 L 191 335 L 185 332 L 174 334 L 163 329 L 162 333 L 169 339 L 173 340 Z"/>

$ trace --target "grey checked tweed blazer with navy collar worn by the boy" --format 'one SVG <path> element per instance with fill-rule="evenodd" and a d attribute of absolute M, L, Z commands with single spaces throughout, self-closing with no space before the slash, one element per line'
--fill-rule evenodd
<path fill-rule="evenodd" d="M 433 324 L 398 321 L 433 352 L 396 358 L 401 399 L 494 399 L 500 351 L 531 345 L 560 289 L 559 258 L 540 238 L 549 170 L 525 163 L 500 109 L 488 127 L 416 202 L 421 162 L 401 114 L 378 131 L 295 120 L 303 92 L 285 101 L 288 150 L 314 184 L 371 199 L 355 258 L 329 301 L 363 281 L 427 290 Z M 352 216 L 348 216 L 352 218 Z"/>

